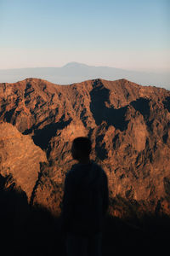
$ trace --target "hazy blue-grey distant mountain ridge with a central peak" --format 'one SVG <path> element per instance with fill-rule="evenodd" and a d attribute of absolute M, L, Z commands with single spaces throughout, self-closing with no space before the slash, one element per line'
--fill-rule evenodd
<path fill-rule="evenodd" d="M 170 73 L 144 73 L 116 67 L 94 67 L 70 62 L 64 67 L 31 67 L 0 70 L 0 83 L 15 83 L 27 78 L 45 79 L 54 84 L 80 83 L 89 79 L 127 79 L 137 84 L 170 90 Z"/>

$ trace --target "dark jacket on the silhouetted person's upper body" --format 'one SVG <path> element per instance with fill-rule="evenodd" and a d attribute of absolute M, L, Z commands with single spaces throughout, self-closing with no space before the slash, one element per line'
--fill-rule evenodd
<path fill-rule="evenodd" d="M 108 205 L 108 181 L 104 170 L 94 162 L 72 166 L 65 177 L 63 229 L 79 236 L 102 231 Z"/>

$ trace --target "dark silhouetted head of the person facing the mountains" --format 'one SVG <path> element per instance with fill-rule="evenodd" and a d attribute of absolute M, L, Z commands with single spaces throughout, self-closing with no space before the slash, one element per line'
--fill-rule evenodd
<path fill-rule="evenodd" d="M 73 159 L 81 160 L 89 157 L 92 150 L 92 143 L 88 137 L 77 137 L 74 139 L 71 147 Z"/>

